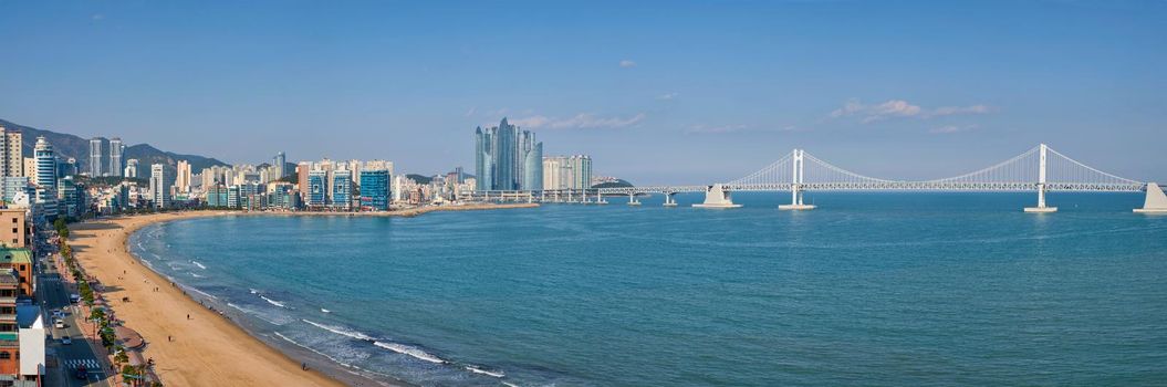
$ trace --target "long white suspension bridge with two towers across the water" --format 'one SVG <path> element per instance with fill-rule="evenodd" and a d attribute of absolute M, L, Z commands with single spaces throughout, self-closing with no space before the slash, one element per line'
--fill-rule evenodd
<path fill-rule="evenodd" d="M 665 206 L 676 206 L 680 192 L 705 192 L 705 202 L 694 207 L 731 209 L 733 192 L 789 191 L 790 204 L 782 210 L 811 210 L 803 202 L 805 191 L 1035 191 L 1037 203 L 1026 212 L 1055 212 L 1046 202 L 1049 191 L 1147 192 L 1146 203 L 1135 212 L 1167 212 L 1167 196 L 1155 183 L 1145 183 L 1104 173 L 1054 150 L 1044 143 L 991 167 L 972 173 L 928 181 L 888 180 L 860 175 L 794 149 L 774 163 L 741 178 L 712 185 L 655 185 L 603 188 L 602 196 L 627 195 L 628 204 L 640 205 L 640 196 L 664 195 Z"/>

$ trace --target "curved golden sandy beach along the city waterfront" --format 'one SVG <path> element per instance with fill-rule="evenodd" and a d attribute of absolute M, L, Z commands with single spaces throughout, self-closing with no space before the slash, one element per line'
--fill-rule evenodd
<path fill-rule="evenodd" d="M 529 207 L 467 205 L 398 211 L 382 216 L 417 216 L 431 211 Z M 190 211 L 110 218 L 70 226 L 70 245 L 86 273 L 106 286 L 105 298 L 125 325 L 148 343 L 144 356 L 158 361 L 168 386 L 343 386 L 316 371 L 302 371 L 300 360 L 252 337 L 242 328 L 187 297 L 181 288 L 140 265 L 126 249 L 126 239 L 142 226 L 224 214 L 355 216 L 348 213 L 245 213 Z M 120 279 L 119 279 L 120 277 Z M 158 288 L 158 291 L 154 289 Z M 121 302 L 128 297 L 130 302 Z M 190 316 L 189 319 L 187 316 Z M 168 342 L 173 337 L 173 342 Z"/>

